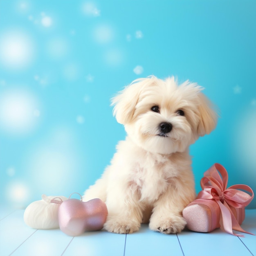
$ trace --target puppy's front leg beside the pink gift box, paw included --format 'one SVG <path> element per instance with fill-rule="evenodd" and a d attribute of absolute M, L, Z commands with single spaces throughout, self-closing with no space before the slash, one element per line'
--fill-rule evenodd
<path fill-rule="evenodd" d="M 164 234 L 180 233 L 186 225 L 182 210 L 193 198 L 193 187 L 192 191 L 188 188 L 179 190 L 170 184 L 167 191 L 154 204 L 149 228 Z"/>

